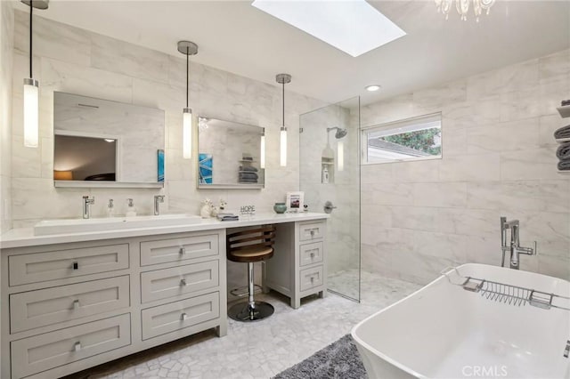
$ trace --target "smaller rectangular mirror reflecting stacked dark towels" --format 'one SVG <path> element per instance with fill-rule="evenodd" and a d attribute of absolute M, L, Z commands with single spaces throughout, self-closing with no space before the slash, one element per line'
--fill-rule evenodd
<path fill-rule="evenodd" d="M 262 136 L 260 126 L 198 117 L 198 188 L 264 188 Z"/>

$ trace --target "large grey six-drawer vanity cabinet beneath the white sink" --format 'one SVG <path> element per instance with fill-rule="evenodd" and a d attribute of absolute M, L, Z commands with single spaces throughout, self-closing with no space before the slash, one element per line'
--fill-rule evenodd
<path fill-rule="evenodd" d="M 1 378 L 57 378 L 208 328 L 225 229 L 2 249 Z"/>

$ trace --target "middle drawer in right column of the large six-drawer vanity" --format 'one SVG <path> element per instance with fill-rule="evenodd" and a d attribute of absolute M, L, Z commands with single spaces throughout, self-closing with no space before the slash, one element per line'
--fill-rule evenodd
<path fill-rule="evenodd" d="M 219 285 L 218 262 L 203 262 L 141 273 L 141 300 L 152 302 Z"/>

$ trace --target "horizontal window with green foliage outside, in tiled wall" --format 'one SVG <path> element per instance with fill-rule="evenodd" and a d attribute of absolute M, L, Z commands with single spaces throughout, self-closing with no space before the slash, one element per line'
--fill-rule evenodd
<path fill-rule="evenodd" d="M 441 113 L 362 129 L 362 162 L 387 163 L 442 157 Z"/>

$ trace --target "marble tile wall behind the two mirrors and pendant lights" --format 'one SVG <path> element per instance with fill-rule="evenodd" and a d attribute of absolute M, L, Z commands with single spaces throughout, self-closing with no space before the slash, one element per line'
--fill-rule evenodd
<path fill-rule="evenodd" d="M 4 3 L 4 2 L 1 2 Z M 29 227 L 41 219 L 81 217 L 81 197 L 95 197 L 95 217 L 105 215 L 107 199 L 115 199 L 125 214 L 126 198 L 134 198 L 139 214 L 151 214 L 153 196 L 166 195 L 164 212 L 199 214 L 200 202 L 219 198 L 228 211 L 254 205 L 273 212 L 297 190 L 299 115 L 324 105 L 322 101 L 286 91 L 285 123 L 289 128 L 288 165 L 279 165 L 281 88 L 191 62 L 190 101 L 196 115 L 261 125 L 266 135 L 265 189 L 196 189 L 196 162 L 182 157 L 182 110 L 185 105 L 186 61 L 80 28 L 34 19 L 34 65 L 40 81 L 40 139 L 38 149 L 22 143 L 21 78 L 28 68 L 28 15 L 15 11 L 12 91 L 12 224 Z M 196 41 L 199 44 L 199 41 Z M 275 68 L 275 73 L 282 68 Z M 295 80 L 294 74 L 293 80 Z M 268 78 L 271 82 L 273 77 Z M 3 87 L 4 88 L 4 87 Z M 53 91 L 78 93 L 111 101 L 165 110 L 166 182 L 164 189 L 55 189 L 53 187 Z M 196 133 L 196 131 L 194 131 Z M 196 134 L 193 136 L 194 151 Z M 4 140 L 4 139 L 3 139 Z M 4 149 L 3 149 L 4 151 Z M 3 194 L 4 198 L 4 194 Z M 245 266 L 228 262 L 229 286 L 244 285 Z"/>

